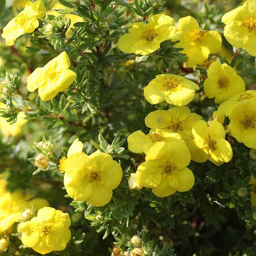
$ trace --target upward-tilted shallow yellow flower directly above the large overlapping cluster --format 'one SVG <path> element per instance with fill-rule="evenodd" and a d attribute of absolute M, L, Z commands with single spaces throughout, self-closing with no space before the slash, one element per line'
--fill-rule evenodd
<path fill-rule="evenodd" d="M 161 74 L 144 88 L 144 96 L 151 104 L 166 101 L 175 106 L 184 106 L 194 99 L 196 90 L 199 90 L 198 85 L 182 76 Z"/>

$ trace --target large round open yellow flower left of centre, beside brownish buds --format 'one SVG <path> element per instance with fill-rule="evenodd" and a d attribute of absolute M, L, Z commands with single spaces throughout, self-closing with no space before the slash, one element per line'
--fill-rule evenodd
<path fill-rule="evenodd" d="M 104 206 L 123 176 L 121 166 L 111 155 L 96 151 L 91 155 L 73 153 L 65 160 L 64 186 L 71 198 Z"/>

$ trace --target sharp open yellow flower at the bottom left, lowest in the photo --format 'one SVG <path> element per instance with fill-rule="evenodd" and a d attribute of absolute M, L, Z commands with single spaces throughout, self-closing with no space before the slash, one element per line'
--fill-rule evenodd
<path fill-rule="evenodd" d="M 22 222 L 18 231 L 22 232 L 21 241 L 34 251 L 46 254 L 51 251 L 62 251 L 71 238 L 68 213 L 43 207 L 38 210 L 37 217 Z"/>

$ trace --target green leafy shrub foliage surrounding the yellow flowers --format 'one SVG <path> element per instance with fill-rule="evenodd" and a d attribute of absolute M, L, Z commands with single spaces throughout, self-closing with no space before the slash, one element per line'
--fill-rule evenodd
<path fill-rule="evenodd" d="M 48 7 L 51 4 L 51 0 L 44 2 Z M 230 163 L 216 167 L 210 162 L 191 162 L 196 183 L 189 192 L 177 192 L 161 199 L 149 189 L 131 191 L 128 188 L 129 174 L 135 172 L 143 156 L 127 151 L 126 137 L 140 129 L 148 132 L 145 116 L 156 109 L 168 109 L 163 104 L 150 105 L 143 97 L 143 87 L 155 75 L 187 74 L 197 82 L 201 96 L 192 101 L 190 109 L 205 119 L 217 105 L 214 100 L 202 97 L 206 69 L 201 67 L 194 72 L 183 69 L 186 56 L 173 47 L 175 42 L 165 41 L 153 54 L 139 58 L 122 53 L 116 45 L 126 32 L 124 25 L 146 20 L 149 15 L 162 11 L 176 21 L 192 15 L 203 28 L 217 28 L 222 33 L 222 15 L 241 1 L 59 0 L 59 3 L 69 9 L 59 11 L 59 17 L 48 15 L 41 20 L 33 36 L 24 35 L 11 47 L 0 41 L 0 81 L 5 81 L 1 101 L 10 108 L 1 114 L 15 121 L 18 112 L 24 111 L 29 120 L 21 137 L 0 140 L 0 172 L 9 172 L 11 191 L 23 188 L 35 196 L 45 197 L 51 206 L 68 211 L 72 218 L 73 238 L 68 248 L 50 255 L 110 255 L 113 242 L 123 251 L 131 251 L 130 239 L 138 233 L 148 249 L 146 255 L 175 255 L 169 247 L 175 248 L 178 256 L 194 253 L 197 256 L 255 256 L 256 207 L 250 204 L 252 187 L 248 182 L 250 175 L 256 175 L 256 160 L 249 158 L 248 148 L 231 137 L 234 156 Z M 1 33 L 14 13 L 12 7 L 5 7 L 5 0 L 0 0 L 0 10 Z M 85 21 L 76 23 L 72 37 L 67 38 L 69 20 L 62 14 L 69 12 Z M 51 32 L 46 30 L 47 24 L 53 25 Z M 229 64 L 244 78 L 247 89 L 255 89 L 255 58 L 242 50 L 234 55 L 223 34 L 222 39 L 231 55 Z M 41 101 L 37 93 L 28 94 L 22 80 L 26 72 L 43 66 L 64 50 L 78 75 L 73 86 L 47 102 Z M 228 61 L 223 55 L 218 57 L 222 62 Z M 135 61 L 127 64 L 131 59 Z M 98 136 L 99 133 L 102 135 Z M 55 154 L 47 172 L 32 175 L 36 167 L 27 159 L 38 154 L 35 144 L 43 136 L 52 138 Z M 87 154 L 100 148 L 119 160 L 124 170 L 121 185 L 104 207 L 96 208 L 64 197 L 58 161 L 77 137 L 84 142 Z M 238 196 L 241 187 L 247 189 L 245 197 Z M 16 236 L 8 239 L 11 245 L 4 256 L 13 255 L 21 245 Z M 165 243 L 168 246 L 163 247 Z M 19 252 L 23 256 L 38 255 L 28 248 L 21 248 Z"/>

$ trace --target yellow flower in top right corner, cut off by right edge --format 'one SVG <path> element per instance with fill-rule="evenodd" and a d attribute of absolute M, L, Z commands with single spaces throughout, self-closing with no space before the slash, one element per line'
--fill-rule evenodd
<path fill-rule="evenodd" d="M 224 14 L 221 20 L 226 24 L 224 37 L 227 41 L 256 56 L 256 1 L 246 1 L 242 6 Z"/>

